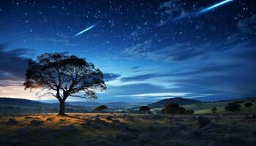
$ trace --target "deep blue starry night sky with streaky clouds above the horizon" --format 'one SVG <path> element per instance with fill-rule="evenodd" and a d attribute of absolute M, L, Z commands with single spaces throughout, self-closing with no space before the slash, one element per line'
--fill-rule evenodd
<path fill-rule="evenodd" d="M 203 12 L 221 1 L 1 0 L 0 96 L 37 99 L 23 89 L 27 61 L 53 52 L 102 70 L 99 102 L 255 96 L 256 3 Z"/>

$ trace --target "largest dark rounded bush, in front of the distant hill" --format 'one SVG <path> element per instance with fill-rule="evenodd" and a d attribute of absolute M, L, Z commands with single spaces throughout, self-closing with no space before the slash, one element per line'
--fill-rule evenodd
<path fill-rule="evenodd" d="M 179 107 L 176 103 L 168 103 L 165 104 L 165 108 L 163 110 L 166 114 L 184 114 L 186 109 L 184 107 Z"/>

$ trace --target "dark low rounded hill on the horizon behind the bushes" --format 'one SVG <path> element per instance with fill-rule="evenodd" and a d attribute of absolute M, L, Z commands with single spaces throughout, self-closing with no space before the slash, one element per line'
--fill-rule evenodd
<path fill-rule="evenodd" d="M 148 104 L 148 107 L 150 107 L 150 108 L 162 108 L 162 107 L 165 107 L 165 104 L 170 103 L 170 102 L 173 102 L 173 103 L 176 103 L 176 104 L 179 104 L 179 105 L 188 105 L 188 104 L 200 104 L 203 101 L 176 97 L 176 98 L 170 98 L 170 99 L 162 99 L 162 100 L 154 102 L 152 104 Z"/>

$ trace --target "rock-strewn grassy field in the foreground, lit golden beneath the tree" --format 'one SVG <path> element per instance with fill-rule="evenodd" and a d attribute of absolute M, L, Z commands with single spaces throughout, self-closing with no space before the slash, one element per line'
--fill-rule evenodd
<path fill-rule="evenodd" d="M 244 114 L 206 115 L 200 126 L 194 115 L 69 113 L 0 116 L 0 145 L 254 145 L 256 123 Z M 8 123 L 9 119 L 17 123 Z M 43 123 L 34 125 L 32 120 Z"/>

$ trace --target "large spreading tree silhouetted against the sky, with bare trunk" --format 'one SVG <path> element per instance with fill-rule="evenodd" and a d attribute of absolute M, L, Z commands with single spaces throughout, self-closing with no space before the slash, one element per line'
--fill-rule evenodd
<path fill-rule="evenodd" d="M 42 91 L 37 96 L 51 95 L 59 100 L 59 115 L 65 115 L 65 100 L 71 97 L 97 99 L 97 91 L 105 91 L 103 74 L 85 58 L 61 53 L 45 53 L 36 61 L 29 60 L 26 70 L 27 88 Z M 40 94 L 40 95 L 39 95 Z"/>

